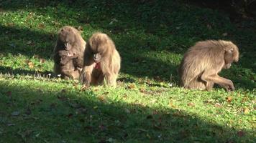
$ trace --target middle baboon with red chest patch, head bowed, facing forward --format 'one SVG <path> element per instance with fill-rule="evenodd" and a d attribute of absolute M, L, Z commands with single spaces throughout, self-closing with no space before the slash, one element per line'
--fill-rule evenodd
<path fill-rule="evenodd" d="M 86 86 L 103 84 L 116 86 L 121 58 L 114 42 L 103 33 L 95 33 L 86 44 L 83 70 L 80 80 Z"/>

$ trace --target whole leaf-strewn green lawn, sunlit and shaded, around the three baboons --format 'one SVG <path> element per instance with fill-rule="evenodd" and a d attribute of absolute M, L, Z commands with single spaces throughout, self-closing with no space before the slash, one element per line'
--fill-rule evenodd
<path fill-rule="evenodd" d="M 53 76 L 65 25 L 84 39 L 112 37 L 122 56 L 116 89 Z M 255 30 L 175 0 L 0 1 L 0 142 L 255 142 Z M 239 62 L 221 71 L 235 92 L 178 87 L 182 55 L 205 39 L 239 46 Z"/>

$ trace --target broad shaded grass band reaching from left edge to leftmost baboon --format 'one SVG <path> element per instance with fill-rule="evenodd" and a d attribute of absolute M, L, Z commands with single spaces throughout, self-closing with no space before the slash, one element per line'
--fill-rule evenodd
<path fill-rule="evenodd" d="M 46 34 L 40 31 L 17 26 L 0 26 L 0 52 L 3 54 L 35 54 L 50 59 L 55 46 L 55 34 Z"/>

